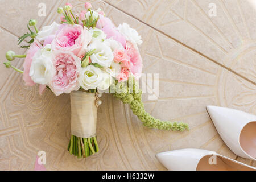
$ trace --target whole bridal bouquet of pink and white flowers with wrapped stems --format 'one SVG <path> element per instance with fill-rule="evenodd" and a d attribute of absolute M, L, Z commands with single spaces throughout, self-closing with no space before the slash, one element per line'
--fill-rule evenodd
<path fill-rule="evenodd" d="M 142 40 L 136 30 L 127 23 L 115 27 L 101 9 L 93 10 L 88 2 L 80 14 L 73 13 L 69 3 L 57 12 L 61 14 L 61 23 L 53 22 L 41 31 L 36 20 L 31 19 L 29 32 L 18 40 L 18 44 L 27 43 L 20 47 L 28 49 L 27 54 L 8 51 L 4 64 L 23 73 L 27 86 L 39 84 L 40 94 L 45 89 L 56 96 L 70 93 L 70 154 L 86 158 L 98 152 L 97 107 L 102 103 L 103 92 L 129 104 L 144 126 L 173 131 L 188 129 L 185 123 L 160 121 L 144 110 L 138 84 L 142 58 L 137 44 Z M 11 64 L 15 57 L 25 58 L 24 71 Z"/>

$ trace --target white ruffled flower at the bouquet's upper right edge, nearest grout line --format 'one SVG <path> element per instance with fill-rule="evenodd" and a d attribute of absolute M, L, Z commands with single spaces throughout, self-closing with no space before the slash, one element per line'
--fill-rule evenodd
<path fill-rule="evenodd" d="M 127 23 L 120 24 L 118 26 L 118 30 L 119 32 L 121 32 L 121 34 L 125 36 L 127 40 L 130 40 L 130 42 L 133 42 L 139 45 L 142 44 L 141 36 L 138 34 L 138 32 L 135 29 L 131 28 L 129 24 Z"/>

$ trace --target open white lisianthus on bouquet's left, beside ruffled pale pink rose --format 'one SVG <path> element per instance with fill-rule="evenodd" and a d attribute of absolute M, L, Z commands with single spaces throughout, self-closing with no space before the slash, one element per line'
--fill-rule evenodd
<path fill-rule="evenodd" d="M 51 82 L 56 70 L 52 63 L 52 47 L 47 44 L 32 57 L 30 77 L 36 84 L 46 85 Z"/>

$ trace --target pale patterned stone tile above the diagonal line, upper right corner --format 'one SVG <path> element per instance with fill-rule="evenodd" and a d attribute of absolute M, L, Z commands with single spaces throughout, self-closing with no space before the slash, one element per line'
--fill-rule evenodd
<path fill-rule="evenodd" d="M 254 0 L 105 1 L 256 82 Z"/>

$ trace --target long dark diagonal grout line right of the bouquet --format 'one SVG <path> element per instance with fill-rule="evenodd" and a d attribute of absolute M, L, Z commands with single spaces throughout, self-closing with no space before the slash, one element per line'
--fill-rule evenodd
<path fill-rule="evenodd" d="M 131 15 L 131 14 L 129 14 L 129 13 L 126 13 L 125 11 L 119 9 L 118 7 L 112 5 L 112 4 L 110 4 L 110 3 L 108 3 L 108 2 L 106 2 L 106 1 L 104 1 L 104 0 L 100 0 L 100 1 L 106 3 L 106 4 L 109 5 L 109 6 L 114 7 L 114 9 L 117 9 L 117 10 L 121 11 L 122 13 L 125 13 L 126 15 L 128 15 L 128 16 L 130 16 L 131 18 L 137 20 L 138 22 L 141 22 L 141 23 L 143 23 L 144 25 L 146 25 L 146 26 L 152 28 L 152 29 L 155 30 L 156 32 L 159 32 L 160 34 L 163 34 L 163 35 L 166 36 L 167 38 L 174 40 L 176 43 L 181 44 L 181 46 L 184 46 L 184 47 L 190 49 L 191 51 L 193 51 L 193 52 L 199 54 L 200 56 L 203 56 L 204 58 L 206 58 L 206 59 L 212 61 L 213 63 L 219 65 L 220 67 L 226 69 L 227 71 L 232 72 L 234 75 L 236 75 L 236 76 L 242 78 L 243 80 L 249 81 L 251 84 L 256 85 L 256 83 L 255 83 L 254 81 L 251 81 L 250 79 L 246 78 L 245 76 L 240 75 L 239 73 L 233 71 L 232 69 L 226 67 L 225 65 L 222 65 L 222 64 L 218 63 L 216 60 L 213 60 L 212 58 L 210 58 L 210 57 L 204 55 L 203 53 L 197 51 L 196 49 L 194 49 L 194 48 L 192 48 L 192 47 L 190 47 L 190 46 L 187 46 L 186 44 L 180 42 L 180 40 L 177 40 L 177 39 L 173 38 L 172 36 L 170 36 L 170 35 L 164 33 L 163 31 L 158 30 L 157 28 L 151 26 L 150 24 L 148 24 L 148 23 L 146 23 L 146 22 L 143 22 L 142 20 L 136 18 L 135 16 L 133 16 L 133 15 Z"/>

